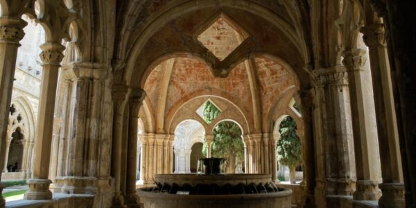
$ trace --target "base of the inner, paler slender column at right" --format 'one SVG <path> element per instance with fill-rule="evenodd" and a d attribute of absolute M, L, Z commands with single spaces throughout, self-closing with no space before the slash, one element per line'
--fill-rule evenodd
<path fill-rule="evenodd" d="M 354 200 L 379 200 L 381 191 L 379 182 L 371 180 L 358 180 L 356 182 L 356 191 L 354 192 Z"/>

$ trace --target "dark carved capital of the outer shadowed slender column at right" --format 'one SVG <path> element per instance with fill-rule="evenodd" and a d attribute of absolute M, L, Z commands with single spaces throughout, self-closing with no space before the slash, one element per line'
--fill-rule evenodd
<path fill-rule="evenodd" d="M 372 24 L 361 28 L 364 43 L 369 47 L 385 47 L 385 29 L 383 24 Z"/>

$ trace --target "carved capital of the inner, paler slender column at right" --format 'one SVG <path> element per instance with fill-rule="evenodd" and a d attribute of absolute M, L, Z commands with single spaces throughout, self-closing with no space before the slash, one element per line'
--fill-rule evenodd
<path fill-rule="evenodd" d="M 345 51 L 343 53 L 343 64 L 347 67 L 347 71 L 360 71 L 363 70 L 364 64 L 367 59 L 364 57 L 366 53 L 363 49 L 353 49 Z"/>

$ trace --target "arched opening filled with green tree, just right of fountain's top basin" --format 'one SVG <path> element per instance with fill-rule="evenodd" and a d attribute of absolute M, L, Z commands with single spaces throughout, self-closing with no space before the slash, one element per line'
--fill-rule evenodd
<path fill-rule="evenodd" d="M 243 130 L 235 121 L 220 121 L 212 131 L 211 157 L 227 159 L 227 173 L 245 173 Z"/>

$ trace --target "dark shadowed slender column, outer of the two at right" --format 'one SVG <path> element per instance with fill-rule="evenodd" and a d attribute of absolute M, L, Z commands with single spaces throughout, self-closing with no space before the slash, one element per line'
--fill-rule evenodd
<path fill-rule="evenodd" d="M 382 153 L 380 156 L 383 184 L 379 187 L 383 194 L 379 205 L 404 207 L 404 179 L 385 31 L 383 24 L 379 22 L 365 26 L 361 31 L 369 49 L 377 132 Z"/>

